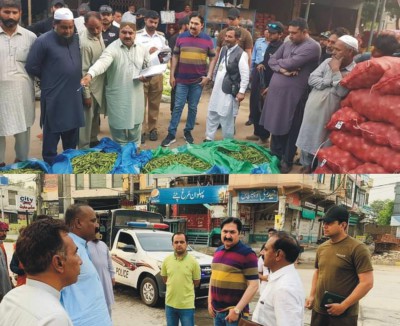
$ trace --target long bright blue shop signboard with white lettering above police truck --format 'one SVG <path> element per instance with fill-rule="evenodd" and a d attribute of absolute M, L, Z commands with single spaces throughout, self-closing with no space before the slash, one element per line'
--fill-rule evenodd
<path fill-rule="evenodd" d="M 227 186 L 177 187 L 154 189 L 151 204 L 224 204 Z"/>

